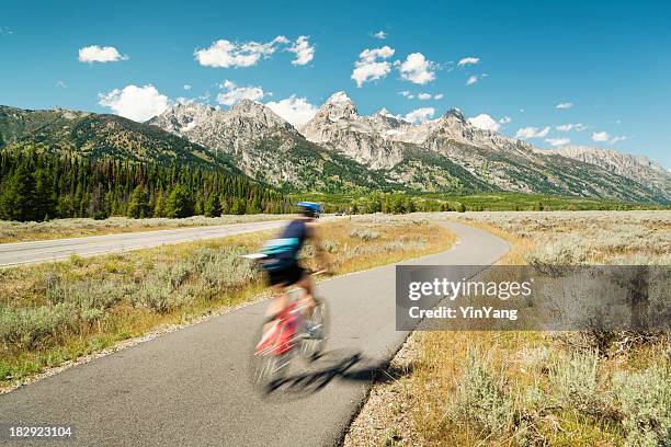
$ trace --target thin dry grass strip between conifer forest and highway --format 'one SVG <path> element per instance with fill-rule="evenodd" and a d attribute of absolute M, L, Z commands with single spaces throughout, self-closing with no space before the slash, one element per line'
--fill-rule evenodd
<path fill-rule="evenodd" d="M 130 219 L 111 217 L 104 220 L 90 218 L 56 219 L 47 222 L 18 222 L 0 220 L 0 243 L 43 241 L 48 239 L 81 238 L 133 231 L 167 230 L 184 227 L 207 227 L 213 225 L 246 224 L 265 220 L 288 219 L 287 215 L 242 215 L 185 219 L 151 218 Z"/>

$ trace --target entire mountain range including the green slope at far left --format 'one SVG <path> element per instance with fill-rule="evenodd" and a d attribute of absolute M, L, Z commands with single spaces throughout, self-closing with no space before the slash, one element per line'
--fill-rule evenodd
<path fill-rule="evenodd" d="M 0 106 L 0 148 L 192 163 L 286 191 L 518 192 L 671 203 L 671 174 L 645 157 L 544 150 L 473 126 L 458 110 L 412 124 L 360 115 L 344 92 L 295 128 L 263 104 L 174 104 L 147 123 Z"/>

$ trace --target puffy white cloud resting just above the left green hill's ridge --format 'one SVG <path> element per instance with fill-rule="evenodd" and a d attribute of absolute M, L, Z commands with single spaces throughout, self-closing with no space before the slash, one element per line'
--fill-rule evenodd
<path fill-rule="evenodd" d="M 98 98 L 100 105 L 136 122 L 146 122 L 160 115 L 170 104 L 168 96 L 160 94 L 151 84 L 144 87 L 130 84 L 122 90 L 114 89 L 109 93 L 99 93 Z"/>

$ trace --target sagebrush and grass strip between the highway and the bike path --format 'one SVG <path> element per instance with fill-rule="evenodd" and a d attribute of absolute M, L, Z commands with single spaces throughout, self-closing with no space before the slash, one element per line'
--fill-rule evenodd
<path fill-rule="evenodd" d="M 320 231 L 336 274 L 454 242 L 450 231 L 414 216 L 336 219 Z M 270 236 L 0 270 L 0 389 L 120 341 L 258 298 L 262 276 L 240 255 L 258 251 Z M 312 250 L 306 248 L 305 255 Z"/>

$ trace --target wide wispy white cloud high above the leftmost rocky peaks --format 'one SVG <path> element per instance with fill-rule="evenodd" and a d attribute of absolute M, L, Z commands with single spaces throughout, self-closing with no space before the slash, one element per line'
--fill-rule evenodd
<path fill-rule="evenodd" d="M 205 67 L 252 67 L 261 58 L 270 57 L 275 53 L 278 45 L 286 45 L 288 43 L 289 39 L 285 36 L 277 36 L 266 43 L 253 41 L 238 43 L 219 39 L 207 48 L 196 49 L 193 55 L 198 64 Z"/>

